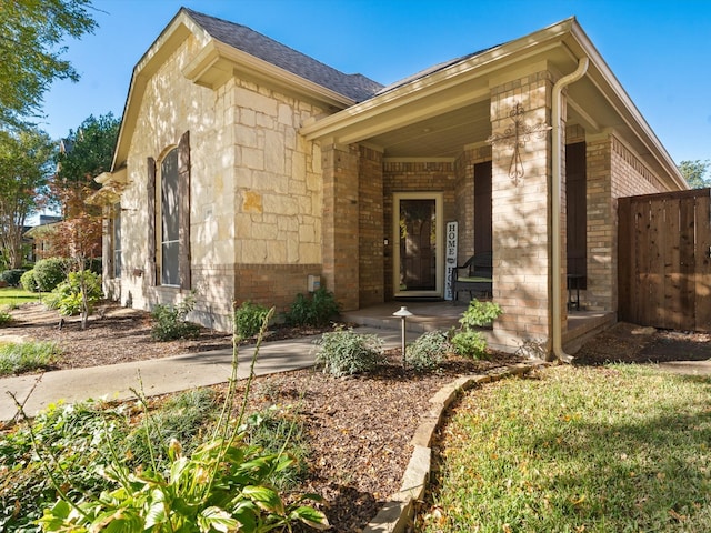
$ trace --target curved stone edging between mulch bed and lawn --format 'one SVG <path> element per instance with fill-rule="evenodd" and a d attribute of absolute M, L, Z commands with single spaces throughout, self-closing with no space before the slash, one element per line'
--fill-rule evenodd
<path fill-rule="evenodd" d="M 519 363 L 493 370 L 489 374 L 458 378 L 430 398 L 432 406 L 424 414 L 423 421 L 420 422 L 412 438 L 411 444 L 414 446 L 414 451 L 402 476 L 400 491 L 390 496 L 380 512 L 363 530 L 363 533 L 401 533 L 404 531 L 414 513 L 414 502 L 421 500 L 424 495 L 432 463 L 432 449 L 430 445 L 432 444 L 434 431 L 442 420 L 442 414 L 461 391 L 512 375 L 524 375 L 544 364 L 543 362 Z"/>

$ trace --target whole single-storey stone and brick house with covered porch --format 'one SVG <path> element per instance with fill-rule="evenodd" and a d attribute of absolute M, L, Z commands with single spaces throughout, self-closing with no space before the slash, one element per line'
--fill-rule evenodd
<path fill-rule="evenodd" d="M 229 330 L 309 276 L 346 311 L 450 299 L 448 266 L 489 251 L 490 342 L 558 352 L 569 274 L 615 320 L 617 199 L 687 188 L 574 18 L 382 87 L 189 9 L 136 66 L 99 181 L 124 304 L 194 291 Z"/>

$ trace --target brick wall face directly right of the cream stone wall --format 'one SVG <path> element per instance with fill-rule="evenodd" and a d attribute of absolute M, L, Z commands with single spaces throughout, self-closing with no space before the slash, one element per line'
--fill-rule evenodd
<path fill-rule="evenodd" d="M 359 308 L 358 147 L 324 145 L 323 280 L 343 311 Z"/>

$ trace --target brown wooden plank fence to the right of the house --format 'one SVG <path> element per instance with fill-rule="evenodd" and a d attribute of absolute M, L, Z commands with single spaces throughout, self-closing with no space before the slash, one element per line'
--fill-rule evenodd
<path fill-rule="evenodd" d="M 711 331 L 711 189 L 621 198 L 619 319 Z"/>

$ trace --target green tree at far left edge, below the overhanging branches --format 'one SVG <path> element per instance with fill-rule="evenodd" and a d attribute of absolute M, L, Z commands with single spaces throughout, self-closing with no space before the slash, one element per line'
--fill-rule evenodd
<path fill-rule="evenodd" d="M 0 130 L 0 245 L 10 269 L 22 265 L 22 232 L 42 202 L 54 144 L 40 130 Z"/>

